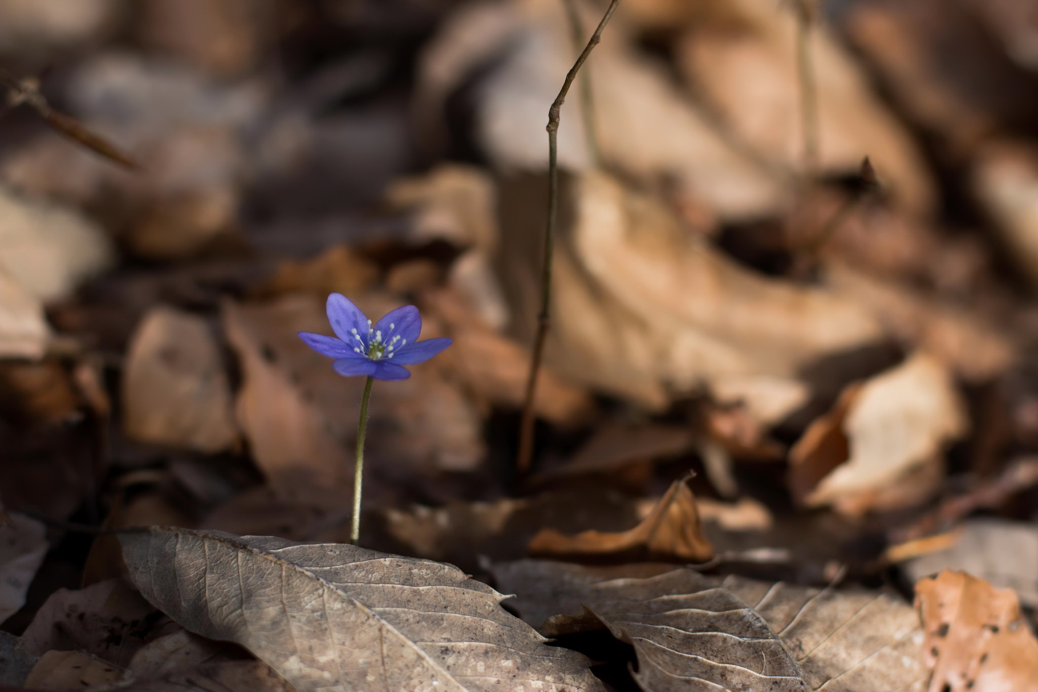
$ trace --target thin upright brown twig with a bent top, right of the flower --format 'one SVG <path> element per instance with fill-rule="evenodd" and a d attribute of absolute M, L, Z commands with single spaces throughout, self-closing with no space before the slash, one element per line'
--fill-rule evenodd
<path fill-rule="evenodd" d="M 555 250 L 555 223 L 558 219 L 558 122 L 566 94 L 569 93 L 573 80 L 576 79 L 580 66 L 591 55 L 591 52 L 602 40 L 602 30 L 609 23 L 612 13 L 620 6 L 620 0 L 611 0 L 608 9 L 599 22 L 598 28 L 592 34 L 577 61 L 573 63 L 566 75 L 563 88 L 548 109 L 548 225 L 544 233 L 544 266 L 541 274 L 541 312 L 537 317 L 537 337 L 534 341 L 534 356 L 529 363 L 529 377 L 526 380 L 526 397 L 523 403 L 522 422 L 519 426 L 519 451 L 516 456 L 516 468 L 520 472 L 529 470 L 534 455 L 534 397 L 537 394 L 537 378 L 541 371 L 541 360 L 544 356 L 544 342 L 551 325 L 551 262 Z"/>

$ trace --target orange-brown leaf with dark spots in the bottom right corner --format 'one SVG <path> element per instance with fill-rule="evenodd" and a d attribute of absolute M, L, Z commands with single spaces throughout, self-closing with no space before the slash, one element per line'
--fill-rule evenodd
<path fill-rule="evenodd" d="M 929 692 L 1038 690 L 1038 640 L 1012 589 L 945 570 L 916 583 Z"/>

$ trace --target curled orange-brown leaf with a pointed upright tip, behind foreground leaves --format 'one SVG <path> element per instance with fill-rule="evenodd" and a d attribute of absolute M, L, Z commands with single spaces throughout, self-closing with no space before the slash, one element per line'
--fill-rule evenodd
<path fill-rule="evenodd" d="M 705 562 L 713 546 L 703 534 L 695 497 L 688 478 L 676 480 L 655 509 L 640 524 L 621 533 L 584 531 L 567 536 L 546 528 L 529 542 L 534 555 L 571 556 L 577 559 L 640 558 Z"/>

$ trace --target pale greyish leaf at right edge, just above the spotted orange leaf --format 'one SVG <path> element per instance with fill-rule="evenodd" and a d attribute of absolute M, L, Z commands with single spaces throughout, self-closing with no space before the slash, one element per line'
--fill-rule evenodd
<path fill-rule="evenodd" d="M 1011 588 L 1038 606 L 1038 529 L 1029 522 L 978 517 L 966 520 L 946 550 L 901 565 L 916 582 L 945 570 L 965 572 L 998 588 Z"/>

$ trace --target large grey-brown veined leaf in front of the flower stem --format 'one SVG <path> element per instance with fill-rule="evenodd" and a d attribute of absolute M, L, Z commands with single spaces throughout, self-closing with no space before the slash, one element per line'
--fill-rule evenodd
<path fill-rule="evenodd" d="M 448 564 L 161 527 L 120 539 L 156 607 L 241 643 L 299 692 L 603 689 L 586 659 L 547 646 Z"/>

